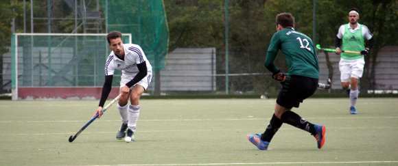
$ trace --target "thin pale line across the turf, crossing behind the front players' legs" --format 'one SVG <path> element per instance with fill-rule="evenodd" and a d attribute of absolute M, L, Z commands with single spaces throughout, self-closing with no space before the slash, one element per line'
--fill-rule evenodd
<path fill-rule="evenodd" d="M 397 119 L 398 117 L 309 117 L 306 120 L 332 120 L 332 119 Z M 139 120 L 140 122 L 178 122 L 178 121 L 234 121 L 234 120 L 270 120 L 269 118 L 222 118 L 222 119 L 170 119 L 170 120 Z M 97 120 L 100 122 L 120 122 L 120 120 Z M 0 123 L 54 123 L 54 122 L 89 122 L 89 120 L 7 120 Z"/>

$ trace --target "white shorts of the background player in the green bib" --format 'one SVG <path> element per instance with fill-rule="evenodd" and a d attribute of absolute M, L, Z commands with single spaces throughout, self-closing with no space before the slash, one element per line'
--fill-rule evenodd
<path fill-rule="evenodd" d="M 360 79 L 364 73 L 365 59 L 340 59 L 340 80 L 342 82 L 349 82 L 350 78 Z"/>

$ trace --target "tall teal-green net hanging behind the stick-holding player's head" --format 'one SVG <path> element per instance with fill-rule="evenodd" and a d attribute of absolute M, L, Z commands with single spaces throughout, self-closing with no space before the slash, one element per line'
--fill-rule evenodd
<path fill-rule="evenodd" d="M 154 71 L 165 67 L 169 40 L 163 1 L 102 0 L 109 31 L 131 33 L 132 43 L 139 44 Z"/>

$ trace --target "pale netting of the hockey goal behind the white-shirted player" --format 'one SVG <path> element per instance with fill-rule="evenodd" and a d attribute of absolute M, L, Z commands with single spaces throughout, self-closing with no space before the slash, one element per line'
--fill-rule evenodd
<path fill-rule="evenodd" d="M 103 85 L 106 33 L 16 33 L 13 38 L 12 87 Z M 130 34 L 123 41 L 129 43 Z M 118 81 L 113 85 L 119 86 Z"/>

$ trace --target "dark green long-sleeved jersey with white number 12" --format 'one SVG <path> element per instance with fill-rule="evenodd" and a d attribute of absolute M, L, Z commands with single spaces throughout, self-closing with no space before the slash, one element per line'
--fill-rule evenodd
<path fill-rule="evenodd" d="M 288 78 L 290 75 L 299 75 L 318 79 L 318 57 L 311 38 L 293 28 L 285 28 L 274 33 L 264 63 L 272 73 L 279 71 L 274 66 L 274 59 L 279 50 L 285 55 L 288 64 Z"/>

